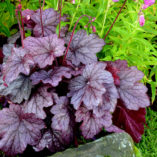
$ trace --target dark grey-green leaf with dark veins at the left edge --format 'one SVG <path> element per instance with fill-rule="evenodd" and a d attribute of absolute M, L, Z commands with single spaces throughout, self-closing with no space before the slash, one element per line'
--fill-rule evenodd
<path fill-rule="evenodd" d="M 8 87 L 4 86 L 4 81 L 0 79 L 0 95 L 8 96 L 14 103 L 21 103 L 23 99 L 28 100 L 31 94 L 32 84 L 29 77 L 19 75 Z"/>

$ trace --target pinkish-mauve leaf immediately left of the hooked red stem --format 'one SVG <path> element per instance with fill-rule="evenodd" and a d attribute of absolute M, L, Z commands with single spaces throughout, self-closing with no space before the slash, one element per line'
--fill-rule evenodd
<path fill-rule="evenodd" d="M 52 65 L 55 57 L 62 56 L 65 50 L 64 40 L 56 34 L 41 38 L 28 37 L 24 40 L 24 45 L 40 68 Z"/>

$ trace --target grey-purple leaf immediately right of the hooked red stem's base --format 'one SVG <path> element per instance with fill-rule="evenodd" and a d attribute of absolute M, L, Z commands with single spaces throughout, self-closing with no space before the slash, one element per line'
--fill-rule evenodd
<path fill-rule="evenodd" d="M 71 33 L 65 38 L 65 43 L 70 41 Z M 80 63 L 89 64 L 97 61 L 96 53 L 99 52 L 105 42 L 96 34 L 87 35 L 86 31 L 80 30 L 74 34 L 70 48 L 67 54 L 67 60 L 70 60 L 74 65 Z"/>

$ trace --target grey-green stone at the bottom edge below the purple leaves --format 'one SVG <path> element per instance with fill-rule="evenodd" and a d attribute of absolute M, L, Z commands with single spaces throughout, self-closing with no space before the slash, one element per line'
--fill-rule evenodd
<path fill-rule="evenodd" d="M 114 133 L 50 157 L 136 157 L 136 155 L 130 135 Z"/>

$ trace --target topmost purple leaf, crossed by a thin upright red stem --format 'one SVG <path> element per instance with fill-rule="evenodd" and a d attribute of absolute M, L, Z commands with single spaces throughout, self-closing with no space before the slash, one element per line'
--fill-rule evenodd
<path fill-rule="evenodd" d="M 42 36 L 42 26 L 40 19 L 40 10 L 37 10 L 35 14 L 31 16 L 31 19 L 36 23 L 33 33 L 36 37 Z M 62 21 L 66 21 L 66 17 L 61 17 Z M 59 13 L 52 8 L 42 11 L 42 25 L 44 30 L 44 36 L 56 33 L 57 25 L 59 24 Z M 65 28 L 66 29 L 66 28 Z M 63 33 L 66 30 L 62 30 Z M 63 34 L 62 34 L 63 35 Z"/>

